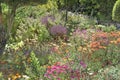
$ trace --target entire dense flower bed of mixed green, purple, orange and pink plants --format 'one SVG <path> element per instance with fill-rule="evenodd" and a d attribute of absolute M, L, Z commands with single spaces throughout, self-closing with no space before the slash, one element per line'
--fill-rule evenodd
<path fill-rule="evenodd" d="M 54 0 L 22 6 L 0 55 L 0 80 L 119 80 L 119 48 L 115 24 L 58 10 Z"/>

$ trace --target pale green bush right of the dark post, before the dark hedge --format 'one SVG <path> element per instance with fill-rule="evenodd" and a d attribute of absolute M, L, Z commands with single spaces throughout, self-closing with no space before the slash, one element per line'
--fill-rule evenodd
<path fill-rule="evenodd" d="M 67 26 L 68 26 L 69 32 L 72 32 L 77 28 L 79 29 L 93 28 L 96 23 L 97 23 L 97 20 L 95 18 L 82 15 L 82 14 L 68 12 Z"/>

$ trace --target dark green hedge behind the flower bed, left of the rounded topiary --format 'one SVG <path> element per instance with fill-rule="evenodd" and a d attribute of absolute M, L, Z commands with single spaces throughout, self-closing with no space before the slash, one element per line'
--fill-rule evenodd
<path fill-rule="evenodd" d="M 63 1 L 63 0 L 60 0 Z M 116 0 L 64 0 L 67 1 L 67 10 L 95 16 L 102 20 L 111 20 L 112 8 Z M 64 5 L 61 8 L 65 9 Z M 64 6 L 64 7 L 63 7 Z"/>

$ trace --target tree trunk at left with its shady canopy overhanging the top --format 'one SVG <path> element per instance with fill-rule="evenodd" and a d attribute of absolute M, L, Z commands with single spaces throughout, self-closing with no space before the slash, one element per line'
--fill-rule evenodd
<path fill-rule="evenodd" d="M 44 0 L 44 1 L 43 0 L 1 0 L 0 4 L 4 3 L 8 6 L 8 12 L 7 12 L 7 15 L 6 15 L 6 20 L 4 20 L 5 23 L 6 23 L 6 26 L 7 26 L 8 36 L 11 35 L 10 34 L 11 30 L 14 29 L 13 28 L 14 18 L 15 18 L 16 10 L 17 10 L 18 7 L 25 6 L 25 5 L 30 5 L 30 4 L 32 4 L 32 5 L 44 4 L 46 2 L 47 2 L 47 0 Z M 15 29 L 13 31 L 15 32 Z"/>

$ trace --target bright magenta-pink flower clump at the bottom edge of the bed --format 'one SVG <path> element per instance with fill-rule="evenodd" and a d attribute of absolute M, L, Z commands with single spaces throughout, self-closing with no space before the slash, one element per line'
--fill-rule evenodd
<path fill-rule="evenodd" d="M 57 63 L 52 66 L 48 66 L 44 77 L 46 77 L 47 79 L 50 79 L 50 80 L 53 80 L 53 79 L 57 79 L 57 80 L 69 79 L 69 80 L 71 80 L 71 79 L 84 78 L 85 77 L 85 76 L 83 76 L 85 74 L 84 70 L 87 68 L 87 65 L 83 61 L 80 61 L 80 63 L 77 64 L 78 68 L 76 68 L 76 67 L 74 68 L 74 65 L 76 65 L 76 62 L 73 64 L 72 63 L 71 64 Z"/>

